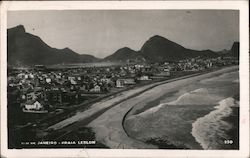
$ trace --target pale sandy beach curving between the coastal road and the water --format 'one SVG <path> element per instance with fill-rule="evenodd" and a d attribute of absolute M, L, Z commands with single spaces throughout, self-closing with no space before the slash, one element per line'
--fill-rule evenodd
<path fill-rule="evenodd" d="M 213 76 L 213 75 L 217 75 L 220 73 L 225 73 L 225 72 L 237 70 L 237 69 L 238 69 L 238 66 L 228 67 L 228 68 L 224 68 L 224 69 L 210 72 L 207 74 L 202 74 L 199 76 L 178 80 L 178 81 L 175 81 L 175 83 L 181 86 L 184 82 L 189 83 L 189 82 L 192 82 L 193 80 L 207 78 L 209 76 Z M 171 84 L 165 83 L 164 85 L 167 85 L 166 89 L 172 88 Z M 120 148 L 119 146 L 116 146 L 115 144 L 116 143 L 120 144 L 121 142 L 123 144 L 122 146 L 126 148 L 147 147 L 148 144 L 143 143 L 144 145 L 141 146 L 141 144 L 138 145 L 133 142 L 136 140 L 131 141 L 131 138 L 128 136 L 128 134 L 124 130 L 124 126 L 122 122 L 124 122 L 123 120 L 124 120 L 124 117 L 127 116 L 128 114 L 127 112 L 132 107 L 134 107 L 134 105 L 138 105 L 138 104 L 150 101 L 148 96 L 150 96 L 152 89 L 155 89 L 156 87 L 151 88 L 150 90 L 140 94 L 139 96 L 136 96 L 132 99 L 128 99 L 116 105 L 115 107 L 111 108 L 110 110 L 106 111 L 103 115 L 95 119 L 93 122 L 91 122 L 88 125 L 88 127 L 91 127 L 93 131 L 95 131 L 97 141 L 100 141 L 111 148 Z M 144 97 L 141 98 L 141 96 L 144 96 Z M 122 118 L 121 118 L 121 115 L 123 115 Z M 112 119 L 110 117 L 112 117 Z"/>

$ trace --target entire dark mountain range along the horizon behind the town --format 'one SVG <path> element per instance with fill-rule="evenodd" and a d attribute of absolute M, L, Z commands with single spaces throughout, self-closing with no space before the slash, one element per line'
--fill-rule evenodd
<path fill-rule="evenodd" d="M 176 61 L 190 57 L 217 57 L 219 52 L 191 50 L 159 35 L 149 38 L 139 51 L 124 47 L 113 54 L 99 59 L 92 55 L 78 54 L 69 48 L 56 49 L 48 46 L 38 36 L 25 31 L 22 25 L 7 31 L 8 65 L 53 65 L 68 63 L 89 63 L 99 61 Z M 235 42 L 227 55 L 239 55 L 239 42 Z"/>

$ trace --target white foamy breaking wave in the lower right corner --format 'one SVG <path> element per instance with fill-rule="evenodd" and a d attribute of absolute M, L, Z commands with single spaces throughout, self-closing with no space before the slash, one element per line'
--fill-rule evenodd
<path fill-rule="evenodd" d="M 222 120 L 232 113 L 231 107 L 238 107 L 239 102 L 229 97 L 223 99 L 216 106 L 216 110 L 204 117 L 198 118 L 192 124 L 191 134 L 200 143 L 203 149 L 223 148 L 224 140 L 229 139 L 225 131 L 232 128 L 232 125 Z"/>

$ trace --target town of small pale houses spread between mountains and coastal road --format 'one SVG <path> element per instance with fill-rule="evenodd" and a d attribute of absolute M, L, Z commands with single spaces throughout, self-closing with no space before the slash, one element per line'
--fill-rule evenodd
<path fill-rule="evenodd" d="M 18 120 L 10 118 L 9 121 L 13 121 L 13 129 L 36 126 L 43 121 L 46 122 L 43 128 L 46 128 L 72 111 L 87 109 L 122 91 L 237 64 L 234 57 L 196 57 L 175 63 L 128 62 L 108 67 L 75 68 L 36 65 L 29 69 L 8 69 L 8 105 L 12 107 L 9 110 L 19 116 Z"/>

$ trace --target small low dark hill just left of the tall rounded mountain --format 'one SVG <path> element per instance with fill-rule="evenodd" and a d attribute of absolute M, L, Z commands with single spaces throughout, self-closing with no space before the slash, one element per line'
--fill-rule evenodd
<path fill-rule="evenodd" d="M 143 60 L 143 56 L 128 47 L 117 50 L 110 56 L 104 58 L 104 61 L 127 61 L 127 60 Z"/>

